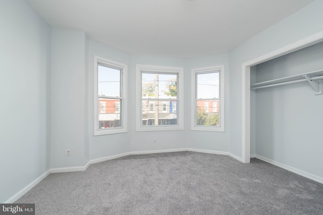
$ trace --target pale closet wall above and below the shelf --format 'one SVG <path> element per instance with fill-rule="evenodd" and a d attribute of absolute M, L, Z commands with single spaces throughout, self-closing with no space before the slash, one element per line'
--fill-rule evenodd
<path fill-rule="evenodd" d="M 323 69 L 323 42 L 257 65 L 257 82 Z M 308 82 L 256 90 L 256 154 L 323 178 L 323 95 Z"/>

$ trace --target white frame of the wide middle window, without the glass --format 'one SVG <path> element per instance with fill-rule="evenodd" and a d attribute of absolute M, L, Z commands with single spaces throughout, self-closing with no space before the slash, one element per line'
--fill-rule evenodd
<path fill-rule="evenodd" d="M 145 72 L 178 75 L 178 79 L 177 79 L 177 123 L 178 125 L 142 126 L 141 73 L 145 73 Z M 159 100 L 163 100 L 163 99 L 159 99 Z M 136 64 L 136 131 L 163 131 L 163 130 L 184 130 L 184 68 L 174 67 L 174 66 Z"/>

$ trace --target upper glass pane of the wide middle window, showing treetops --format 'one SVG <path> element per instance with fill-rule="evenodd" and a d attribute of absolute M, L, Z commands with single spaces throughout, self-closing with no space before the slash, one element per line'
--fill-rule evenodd
<path fill-rule="evenodd" d="M 141 79 L 142 98 L 177 98 L 177 75 L 142 73 Z"/>

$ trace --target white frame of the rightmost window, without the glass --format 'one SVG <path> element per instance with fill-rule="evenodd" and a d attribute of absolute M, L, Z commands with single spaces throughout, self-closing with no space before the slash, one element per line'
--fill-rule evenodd
<path fill-rule="evenodd" d="M 220 98 L 219 98 L 219 126 L 203 126 L 203 125 L 196 125 L 196 74 L 198 73 L 207 73 L 214 70 L 220 70 Z M 203 67 L 203 68 L 194 68 L 192 69 L 192 77 L 191 77 L 191 130 L 201 130 L 201 131 L 220 131 L 224 132 L 224 126 L 225 126 L 225 71 L 224 71 L 224 65 L 217 65 L 217 66 L 209 66 L 209 67 Z"/>

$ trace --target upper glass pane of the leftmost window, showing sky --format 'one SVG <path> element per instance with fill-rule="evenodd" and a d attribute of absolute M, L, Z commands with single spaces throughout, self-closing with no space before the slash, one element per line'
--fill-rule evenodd
<path fill-rule="evenodd" d="M 98 95 L 120 97 L 121 70 L 102 65 L 97 67 Z"/>

